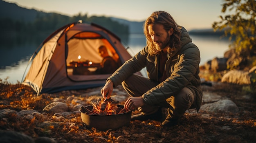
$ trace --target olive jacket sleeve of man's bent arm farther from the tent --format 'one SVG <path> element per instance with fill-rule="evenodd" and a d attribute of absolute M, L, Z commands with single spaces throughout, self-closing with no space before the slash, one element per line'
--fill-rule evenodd
<path fill-rule="evenodd" d="M 154 105 L 165 101 L 167 98 L 177 94 L 182 88 L 191 84 L 194 75 L 197 73 L 200 63 L 199 49 L 192 43 L 178 57 L 178 62 L 171 68 L 171 76 L 156 87 L 148 90 L 142 95 L 144 101 L 149 105 Z"/>

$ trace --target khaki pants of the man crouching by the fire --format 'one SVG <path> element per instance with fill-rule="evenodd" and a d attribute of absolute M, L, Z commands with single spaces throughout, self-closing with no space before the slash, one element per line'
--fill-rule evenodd
<path fill-rule="evenodd" d="M 131 75 L 122 82 L 122 86 L 132 97 L 139 97 L 158 84 L 160 83 L 157 81 L 152 81 L 139 75 Z M 168 114 L 172 119 L 178 119 L 185 113 L 186 110 L 191 108 L 194 98 L 195 96 L 191 90 L 185 87 L 179 93 L 177 93 L 177 95 L 170 95 L 166 101 L 158 103 L 154 106 L 149 106 L 146 104 L 138 108 L 138 110 L 142 114 L 148 115 L 155 113 L 159 107 L 164 107 L 168 108 Z"/>

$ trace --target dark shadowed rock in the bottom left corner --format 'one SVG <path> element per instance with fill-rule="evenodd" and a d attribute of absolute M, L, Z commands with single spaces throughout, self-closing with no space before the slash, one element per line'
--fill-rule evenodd
<path fill-rule="evenodd" d="M 19 132 L 0 130 L 1 143 L 34 143 L 34 140 Z"/>

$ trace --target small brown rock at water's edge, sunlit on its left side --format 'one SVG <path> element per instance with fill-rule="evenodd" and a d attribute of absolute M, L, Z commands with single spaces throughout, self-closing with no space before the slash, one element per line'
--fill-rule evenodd
<path fill-rule="evenodd" d="M 211 60 L 211 70 L 213 72 L 219 72 L 227 70 L 227 58 L 214 58 Z"/>

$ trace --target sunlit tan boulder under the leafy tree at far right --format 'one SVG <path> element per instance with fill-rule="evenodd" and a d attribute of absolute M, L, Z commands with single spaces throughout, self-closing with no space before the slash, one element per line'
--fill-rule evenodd
<path fill-rule="evenodd" d="M 221 78 L 221 82 L 232 84 L 251 84 L 251 76 L 249 72 L 242 70 L 230 70 Z"/>

